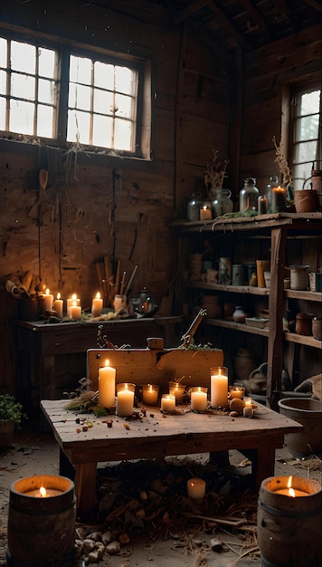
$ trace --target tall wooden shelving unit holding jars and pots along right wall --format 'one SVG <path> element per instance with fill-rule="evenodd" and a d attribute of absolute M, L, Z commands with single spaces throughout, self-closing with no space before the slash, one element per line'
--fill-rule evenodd
<path fill-rule="evenodd" d="M 200 239 L 213 240 L 219 255 L 225 255 L 227 248 L 232 251 L 232 263 L 244 263 L 244 258 L 234 257 L 238 246 L 247 249 L 248 261 L 254 261 L 260 257 L 258 250 L 263 246 L 270 249 L 270 289 L 253 287 L 250 285 L 232 286 L 204 283 L 202 281 L 189 281 L 185 277 L 181 283 L 180 293 L 208 291 L 219 295 L 232 294 L 232 297 L 253 296 L 254 302 L 260 298 L 268 298 L 270 310 L 269 329 L 259 329 L 246 324 L 227 321 L 223 319 L 206 318 L 205 324 L 216 328 L 231 330 L 232 332 L 245 332 L 267 338 L 268 352 L 268 376 L 267 376 L 267 400 L 268 405 L 277 408 L 277 402 L 281 392 L 281 374 L 283 370 L 283 350 L 287 343 L 312 347 L 322 350 L 322 342 L 313 336 L 298 335 L 295 332 L 283 331 L 283 314 L 289 300 L 297 301 L 300 305 L 309 305 L 316 315 L 321 316 L 322 293 L 310 291 L 296 291 L 284 289 L 285 268 L 288 266 L 289 257 L 292 255 L 289 248 L 295 241 L 295 252 L 297 262 L 291 264 L 308 264 L 302 255 L 309 254 L 311 271 L 317 272 L 321 267 L 321 213 L 279 213 L 275 215 L 262 215 L 241 218 L 217 218 L 213 221 L 175 222 L 171 226 L 175 230 L 178 243 L 178 264 L 182 271 L 187 271 L 187 257 L 189 255 L 189 241 L 196 245 Z M 306 250 L 306 244 L 309 247 Z M 251 250 L 254 255 L 251 257 Z M 309 251 L 308 251 L 309 250 Z M 247 258 L 246 258 L 247 259 Z M 312 265 L 314 263 L 314 265 Z M 179 293 L 179 294 L 180 294 Z M 300 311 L 298 309 L 298 311 Z"/>

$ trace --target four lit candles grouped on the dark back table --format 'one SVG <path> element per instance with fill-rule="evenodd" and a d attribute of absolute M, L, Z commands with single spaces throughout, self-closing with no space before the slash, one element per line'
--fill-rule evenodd
<path fill-rule="evenodd" d="M 46 293 L 43 294 L 43 311 L 50 312 L 55 311 L 57 317 L 62 319 L 63 317 L 63 299 L 61 293 L 57 293 L 57 298 L 53 299 L 53 294 L 47 289 Z M 76 293 L 73 293 L 70 298 L 67 299 L 67 317 L 75 321 L 80 320 L 81 317 L 81 305 L 80 298 L 77 297 Z M 100 297 L 100 293 L 96 293 L 96 296 L 91 302 L 91 315 L 92 317 L 99 317 L 103 311 L 103 300 Z"/>

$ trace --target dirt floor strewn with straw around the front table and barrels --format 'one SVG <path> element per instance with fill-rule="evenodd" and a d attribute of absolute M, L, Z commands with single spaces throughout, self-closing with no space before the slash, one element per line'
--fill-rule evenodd
<path fill-rule="evenodd" d="M 302 476 L 321 483 L 320 456 L 307 460 L 295 459 L 287 447 L 277 451 L 275 475 Z M 194 463 L 207 465 L 208 456 L 190 456 Z M 186 465 L 189 457 L 174 457 L 174 465 Z M 108 466 L 108 477 L 111 475 L 111 464 L 99 464 L 98 476 L 103 477 Z M 118 473 L 119 469 L 115 469 Z M 133 472 L 133 471 L 132 471 Z M 235 499 L 236 505 L 243 509 L 240 515 L 251 518 L 249 531 L 232 530 L 230 527 L 218 526 L 214 522 L 198 519 L 194 522 L 178 520 L 177 524 L 167 522 L 163 518 L 163 530 L 160 530 L 159 519 L 151 522 L 148 529 L 136 527 L 128 529 L 128 543 L 115 555 L 105 553 L 99 561 L 100 567 L 246 567 L 260 566 L 260 551 L 256 538 L 256 506 L 258 495 L 248 488 L 251 467 L 247 459 L 238 451 L 231 451 L 229 464 L 220 471 L 221 497 Z M 10 486 L 19 478 L 39 474 L 59 474 L 59 451 L 51 433 L 40 433 L 35 428 L 24 428 L 14 435 L 13 447 L 0 452 L 0 567 L 6 567 L 7 551 L 6 525 L 9 510 Z M 226 477 L 225 477 L 226 475 Z M 114 475 L 115 476 L 115 475 Z M 228 479 L 228 482 L 226 482 Z M 233 479 L 233 480 L 232 480 Z M 237 480 L 236 480 L 237 479 Z M 115 480 L 115 479 L 114 479 Z M 237 483 L 236 495 L 230 496 L 233 483 Z M 208 496 L 210 497 L 210 496 Z M 238 508 L 237 505 L 237 508 Z M 180 518 L 176 511 L 176 518 Z M 171 518 L 170 518 L 171 520 Z M 147 526 L 147 524 L 145 524 Z M 99 525 L 80 525 L 88 531 L 98 531 Z M 219 541 L 215 547 L 213 539 Z M 214 548 L 214 549 L 213 549 Z M 243 555 L 245 553 L 245 555 Z M 75 567 L 83 567 L 94 563 L 87 562 L 82 556 L 75 560 Z"/>

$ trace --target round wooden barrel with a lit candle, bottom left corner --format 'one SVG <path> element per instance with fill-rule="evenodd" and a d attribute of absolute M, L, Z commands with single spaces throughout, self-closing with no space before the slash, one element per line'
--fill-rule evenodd
<path fill-rule="evenodd" d="M 30 495 L 41 486 L 57 495 Z M 28 476 L 14 482 L 8 511 L 8 567 L 72 566 L 75 519 L 75 487 L 69 478 Z"/>

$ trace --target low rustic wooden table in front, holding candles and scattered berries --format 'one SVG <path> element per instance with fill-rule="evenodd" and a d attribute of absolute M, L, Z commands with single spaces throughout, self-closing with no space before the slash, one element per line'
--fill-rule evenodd
<path fill-rule="evenodd" d="M 186 406 L 178 406 L 174 415 L 165 416 L 159 408 L 146 406 L 147 417 L 127 421 L 112 416 L 111 428 L 106 422 L 109 418 L 77 416 L 64 409 L 65 405 L 66 400 L 41 402 L 60 446 L 60 473 L 69 476 L 71 465 L 74 467 L 80 517 L 90 514 L 97 504 L 98 462 L 247 450 L 254 486 L 259 489 L 264 478 L 274 475 L 275 449 L 283 447 L 284 434 L 302 428 L 296 421 L 260 404 L 254 418 L 230 418 L 218 412 L 196 414 L 185 411 Z M 76 423 L 78 417 L 89 418 L 93 427 L 83 431 Z"/>

